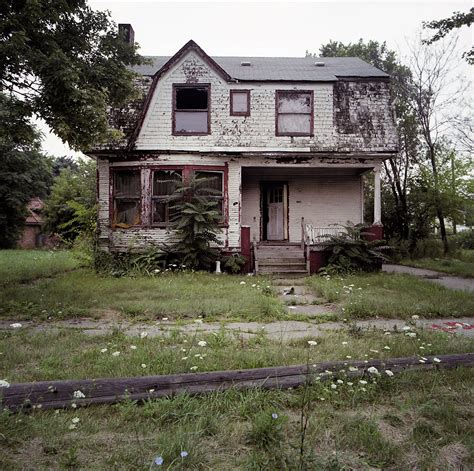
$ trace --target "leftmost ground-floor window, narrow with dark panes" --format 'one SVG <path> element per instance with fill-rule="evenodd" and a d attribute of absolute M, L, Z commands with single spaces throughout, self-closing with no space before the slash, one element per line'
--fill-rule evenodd
<path fill-rule="evenodd" d="M 117 227 L 140 224 L 140 170 L 114 172 L 114 215 Z"/>

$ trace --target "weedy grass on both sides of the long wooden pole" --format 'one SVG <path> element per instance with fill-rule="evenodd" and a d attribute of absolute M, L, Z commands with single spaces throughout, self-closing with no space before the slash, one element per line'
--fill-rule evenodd
<path fill-rule="evenodd" d="M 208 346 L 202 348 L 196 338 L 180 336 L 136 339 L 137 349 L 132 350 L 132 340 L 119 334 L 97 338 L 58 332 L 42 337 L 15 331 L 2 334 L 0 378 L 164 373 L 188 371 L 191 363 L 199 364 L 200 370 L 263 366 L 305 361 L 308 352 L 311 361 L 318 361 L 413 354 L 423 351 L 422 346 L 426 354 L 472 350 L 473 341 L 464 337 L 428 332 L 418 336 L 419 340 L 402 333 L 338 333 L 311 348 L 306 340 L 282 348 L 263 336 L 242 343 L 223 335 L 208 336 Z M 108 351 L 101 353 L 101 348 Z M 121 353 L 112 357 L 113 351 Z M 199 360 L 194 352 L 207 356 Z M 181 360 L 182 355 L 192 362 Z M 230 390 L 141 405 L 125 401 L 29 415 L 4 412 L 0 468 L 332 470 L 474 465 L 472 369 L 406 372 L 391 378 L 382 373 L 368 384 L 351 382 L 343 373 L 339 379 L 342 383 L 316 383 L 306 390 Z M 310 401 L 310 416 L 300 468 L 303 393 Z M 188 455 L 182 458 L 183 451 Z M 157 457 L 163 465 L 152 464 Z"/>

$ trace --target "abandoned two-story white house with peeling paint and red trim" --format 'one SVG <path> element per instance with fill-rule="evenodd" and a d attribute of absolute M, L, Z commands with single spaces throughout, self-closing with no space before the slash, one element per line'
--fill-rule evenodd
<path fill-rule="evenodd" d="M 142 98 L 111 111 L 122 141 L 91 153 L 104 249 L 169 240 L 167 198 L 191 174 L 214 177 L 221 247 L 249 270 L 316 271 L 322 236 L 363 221 L 367 173 L 381 237 L 380 167 L 397 146 L 387 74 L 348 57 L 210 57 L 193 41 L 150 62 Z"/>

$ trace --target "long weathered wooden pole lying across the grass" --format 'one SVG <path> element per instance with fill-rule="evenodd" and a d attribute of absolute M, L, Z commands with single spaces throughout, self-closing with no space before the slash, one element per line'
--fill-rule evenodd
<path fill-rule="evenodd" d="M 403 370 L 429 370 L 473 366 L 474 353 L 389 358 L 385 360 L 329 361 L 311 365 L 255 368 L 233 371 L 210 371 L 133 378 L 101 378 L 85 380 L 39 381 L 12 384 L 0 389 L 2 409 L 11 411 L 32 408 L 67 408 L 91 404 L 112 404 L 124 399 L 146 400 L 179 393 L 202 394 L 230 388 L 287 389 L 311 381 L 316 375 L 330 380 L 337 375 L 359 377 L 369 375 L 370 367 L 382 374 Z M 352 367 L 349 370 L 349 367 Z M 354 370 L 354 368 L 357 368 Z M 84 395 L 85 397 L 78 397 Z"/>

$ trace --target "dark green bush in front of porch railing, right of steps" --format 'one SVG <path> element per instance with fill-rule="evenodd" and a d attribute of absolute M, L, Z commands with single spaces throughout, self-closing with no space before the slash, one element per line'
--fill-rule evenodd
<path fill-rule="evenodd" d="M 370 226 L 348 222 L 341 227 L 345 232 L 328 236 L 324 242 L 325 250 L 329 252 L 328 265 L 322 269 L 324 273 L 376 271 L 388 260 L 382 253 L 383 249 L 388 249 L 384 241 L 368 241 L 363 238 L 369 234 L 364 231 Z"/>

